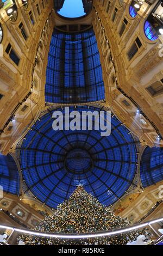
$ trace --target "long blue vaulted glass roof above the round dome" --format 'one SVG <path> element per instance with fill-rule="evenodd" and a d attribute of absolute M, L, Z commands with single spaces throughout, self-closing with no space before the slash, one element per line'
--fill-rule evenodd
<path fill-rule="evenodd" d="M 53 32 L 46 71 L 45 100 L 85 103 L 104 100 L 104 83 L 93 29 Z"/>

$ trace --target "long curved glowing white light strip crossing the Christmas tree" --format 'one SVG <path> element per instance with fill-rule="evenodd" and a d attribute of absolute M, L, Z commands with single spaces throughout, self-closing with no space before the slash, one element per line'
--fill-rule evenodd
<path fill-rule="evenodd" d="M 5 226 L 5 225 L 0 225 L 0 228 L 10 229 L 10 230 L 17 231 L 17 232 L 24 233 L 24 234 L 44 236 L 44 237 L 80 239 L 80 238 L 101 237 L 101 236 L 110 236 L 110 235 L 122 234 L 122 233 L 125 233 L 127 231 L 143 228 L 143 227 L 146 227 L 147 225 L 151 225 L 151 224 L 158 223 L 158 222 L 161 222 L 161 221 L 163 221 L 163 218 L 159 218 L 157 220 L 145 222 L 145 223 L 142 223 L 142 224 L 133 225 L 133 226 L 128 227 L 128 228 L 122 228 L 122 229 L 117 229 L 117 230 L 108 230 L 108 231 L 99 231 L 98 233 L 80 234 L 80 235 L 79 234 L 43 233 L 43 232 L 39 232 L 39 231 L 30 231 L 30 230 L 26 230 L 26 229 L 12 228 L 12 227 L 8 227 L 8 226 Z"/>

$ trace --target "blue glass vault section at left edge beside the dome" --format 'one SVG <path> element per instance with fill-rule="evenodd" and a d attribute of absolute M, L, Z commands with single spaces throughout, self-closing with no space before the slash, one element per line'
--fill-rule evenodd
<path fill-rule="evenodd" d="M 3 191 L 11 194 L 19 194 L 20 180 L 18 169 L 12 156 L 0 154 L 0 186 Z"/>

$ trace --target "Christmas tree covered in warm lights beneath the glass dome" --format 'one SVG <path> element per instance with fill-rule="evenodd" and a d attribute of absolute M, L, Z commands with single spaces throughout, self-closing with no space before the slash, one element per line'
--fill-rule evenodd
<path fill-rule="evenodd" d="M 98 202 L 88 194 L 83 186 L 78 186 L 68 200 L 58 206 L 52 216 L 47 216 L 35 230 L 48 233 L 96 233 L 97 231 L 128 227 L 130 222 L 126 218 L 115 216 L 109 208 Z M 126 245 L 134 241 L 137 236 L 145 235 L 149 239 L 146 229 L 133 230 L 116 236 L 104 236 L 89 239 L 54 239 L 24 235 L 20 239 L 26 245 Z"/>

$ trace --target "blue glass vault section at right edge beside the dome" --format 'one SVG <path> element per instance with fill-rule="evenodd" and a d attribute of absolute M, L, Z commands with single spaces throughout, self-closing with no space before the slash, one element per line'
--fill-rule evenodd
<path fill-rule="evenodd" d="M 145 149 L 141 158 L 140 175 L 143 187 L 163 180 L 163 148 Z"/>

